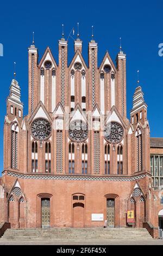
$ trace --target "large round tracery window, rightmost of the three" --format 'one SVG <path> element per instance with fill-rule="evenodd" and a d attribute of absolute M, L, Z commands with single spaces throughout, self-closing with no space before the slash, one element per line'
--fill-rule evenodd
<path fill-rule="evenodd" d="M 104 137 L 110 143 L 119 143 L 123 138 L 123 128 L 120 123 L 111 122 L 104 128 Z"/>

